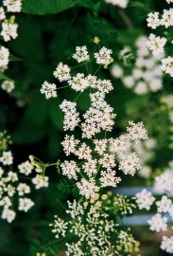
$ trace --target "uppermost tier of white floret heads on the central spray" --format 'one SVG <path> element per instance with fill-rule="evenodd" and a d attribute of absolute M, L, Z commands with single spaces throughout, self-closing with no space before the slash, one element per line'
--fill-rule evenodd
<path fill-rule="evenodd" d="M 99 52 L 95 53 L 95 63 L 107 66 L 112 63 L 112 50 L 103 46 Z M 86 46 L 77 46 L 76 53 L 72 56 L 78 63 L 86 63 L 90 61 L 90 56 L 88 54 L 88 49 Z M 67 64 L 58 64 L 53 75 L 60 82 L 67 82 L 69 86 L 79 92 L 83 92 L 87 88 L 96 88 L 100 93 L 106 94 L 112 90 L 112 83 L 110 81 L 96 80 L 95 76 L 88 75 L 84 76 L 83 73 L 77 73 L 75 76 L 71 77 L 70 67 Z M 68 85 L 67 85 L 68 86 Z M 66 87 L 67 87 L 66 86 Z M 43 82 L 41 93 L 45 94 L 45 98 L 56 98 L 57 97 L 57 86 L 56 84 L 51 84 L 49 82 Z"/>

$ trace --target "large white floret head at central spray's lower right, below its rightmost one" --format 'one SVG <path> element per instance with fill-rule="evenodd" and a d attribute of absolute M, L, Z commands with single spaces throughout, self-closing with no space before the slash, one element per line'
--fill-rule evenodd
<path fill-rule="evenodd" d="M 141 169 L 139 157 L 135 153 L 121 155 L 118 169 L 122 170 L 125 174 L 131 174 L 133 176 L 137 170 Z"/>

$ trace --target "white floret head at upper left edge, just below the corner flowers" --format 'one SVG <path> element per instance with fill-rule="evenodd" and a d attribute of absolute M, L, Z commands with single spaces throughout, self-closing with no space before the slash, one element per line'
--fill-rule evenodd
<path fill-rule="evenodd" d="M 2 23 L 1 35 L 4 38 L 4 41 L 8 42 L 10 38 L 15 39 L 18 36 L 17 27 L 18 25 L 16 23 L 10 23 L 10 21 Z"/>

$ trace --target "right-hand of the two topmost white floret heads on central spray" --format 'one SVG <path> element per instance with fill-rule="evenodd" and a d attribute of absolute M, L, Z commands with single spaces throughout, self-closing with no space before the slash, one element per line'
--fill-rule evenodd
<path fill-rule="evenodd" d="M 103 46 L 99 52 L 95 53 L 96 64 L 109 65 L 112 63 L 112 50 Z"/>

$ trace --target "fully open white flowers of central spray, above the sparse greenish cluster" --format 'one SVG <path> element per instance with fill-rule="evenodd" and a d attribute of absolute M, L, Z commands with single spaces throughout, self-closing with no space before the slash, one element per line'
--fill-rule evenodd
<path fill-rule="evenodd" d="M 107 51 L 107 53 L 106 53 Z M 102 47 L 95 54 L 97 63 L 108 64 L 112 53 L 106 47 Z M 86 57 L 87 56 L 87 57 Z M 73 55 L 78 62 L 88 61 L 88 50 L 86 46 L 77 47 L 76 53 Z M 107 56 L 107 61 L 105 61 Z M 81 58 L 79 60 L 78 58 Z M 100 61 L 101 60 L 101 61 Z M 66 64 L 59 64 L 54 76 L 60 82 L 66 81 L 72 89 L 79 91 L 79 95 L 84 89 L 90 87 L 89 100 L 91 107 L 79 118 L 76 101 L 63 100 L 61 102 L 61 110 L 64 113 L 63 129 L 64 131 L 74 131 L 77 127 L 81 130 L 81 137 L 85 142 L 79 141 L 74 135 L 65 135 L 61 142 L 65 155 L 71 154 L 82 160 L 64 160 L 60 167 L 61 173 L 69 179 L 75 179 L 78 191 L 86 198 L 93 200 L 95 194 L 104 187 L 116 187 L 121 178 L 116 174 L 118 170 L 124 174 L 134 175 L 136 171 L 141 169 L 139 157 L 134 153 L 125 154 L 132 144 L 139 144 L 141 140 L 147 139 L 147 131 L 142 122 L 129 122 L 127 135 L 117 138 L 100 138 L 95 136 L 102 131 L 111 132 L 114 124 L 115 114 L 112 107 L 105 101 L 106 94 L 112 90 L 112 82 L 109 80 L 100 80 L 96 74 L 77 73 L 76 76 L 70 76 L 70 67 Z M 95 138 L 95 139 L 94 139 Z M 92 143 L 87 143 L 86 139 Z M 116 163 L 117 158 L 117 163 Z M 118 167 L 116 168 L 118 164 Z M 115 170 L 117 169 L 117 171 Z M 95 177 L 97 182 L 95 182 Z"/>

